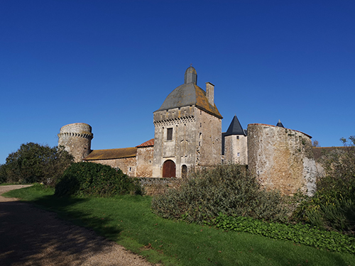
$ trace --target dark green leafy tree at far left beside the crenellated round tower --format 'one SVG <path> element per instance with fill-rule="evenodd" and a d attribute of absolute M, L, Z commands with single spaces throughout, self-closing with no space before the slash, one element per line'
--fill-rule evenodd
<path fill-rule="evenodd" d="M 73 157 L 62 148 L 24 143 L 0 167 L 0 182 L 30 184 L 43 182 L 54 186 Z"/>

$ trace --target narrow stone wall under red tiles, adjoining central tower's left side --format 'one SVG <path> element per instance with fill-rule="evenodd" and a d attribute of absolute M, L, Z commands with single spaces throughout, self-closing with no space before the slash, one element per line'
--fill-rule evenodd
<path fill-rule="evenodd" d="M 153 153 L 153 147 L 137 148 L 137 177 L 152 177 Z"/>

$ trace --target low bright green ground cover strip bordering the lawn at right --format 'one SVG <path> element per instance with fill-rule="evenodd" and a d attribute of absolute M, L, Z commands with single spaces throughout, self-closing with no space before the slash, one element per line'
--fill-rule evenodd
<path fill-rule="evenodd" d="M 334 231 L 322 231 L 308 224 L 266 223 L 249 217 L 217 216 L 210 223 L 224 231 L 242 231 L 268 238 L 291 240 L 330 251 L 355 254 L 355 238 Z"/>

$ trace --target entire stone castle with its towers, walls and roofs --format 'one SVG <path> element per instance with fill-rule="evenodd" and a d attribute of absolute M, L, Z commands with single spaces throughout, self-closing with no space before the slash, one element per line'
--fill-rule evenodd
<path fill-rule="evenodd" d="M 72 123 L 60 128 L 58 145 L 77 162 L 119 167 L 131 177 L 185 178 L 194 167 L 239 163 L 248 165 L 266 188 L 312 194 L 316 167 L 310 135 L 284 128 L 280 121 L 277 126 L 253 123 L 244 130 L 236 116 L 222 133 L 222 118 L 214 104 L 214 85 L 198 87 L 190 66 L 184 84 L 153 112 L 153 139 L 131 148 L 91 150 L 91 126 Z"/>

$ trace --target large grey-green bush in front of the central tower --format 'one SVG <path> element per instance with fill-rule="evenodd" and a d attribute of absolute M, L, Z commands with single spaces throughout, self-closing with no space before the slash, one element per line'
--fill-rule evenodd
<path fill-rule="evenodd" d="M 287 210 L 278 192 L 266 192 L 241 165 L 217 165 L 196 171 L 166 194 L 155 196 L 152 209 L 164 218 L 204 223 L 219 213 L 284 221 Z"/>

